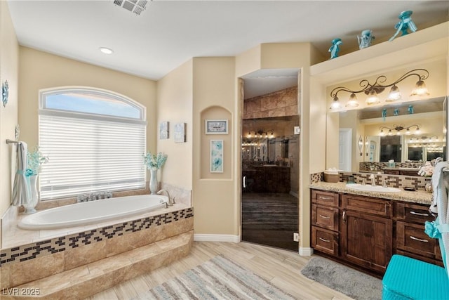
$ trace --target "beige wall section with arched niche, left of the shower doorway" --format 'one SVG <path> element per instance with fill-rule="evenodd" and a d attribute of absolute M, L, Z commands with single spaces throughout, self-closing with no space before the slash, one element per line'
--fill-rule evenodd
<path fill-rule="evenodd" d="M 194 58 L 194 167 L 195 234 L 239 235 L 240 197 L 236 181 L 234 126 L 234 58 Z M 228 119 L 228 134 L 206 134 L 205 119 Z M 210 173 L 210 140 L 223 140 L 223 173 Z"/>

